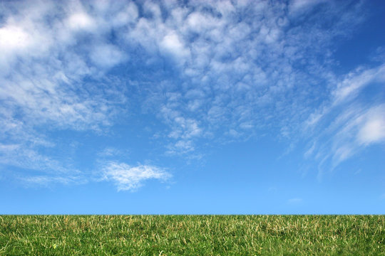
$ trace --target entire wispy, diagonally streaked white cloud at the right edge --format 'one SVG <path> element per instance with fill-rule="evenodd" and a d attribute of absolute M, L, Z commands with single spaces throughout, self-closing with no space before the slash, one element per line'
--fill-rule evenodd
<path fill-rule="evenodd" d="M 336 82 L 328 100 L 304 122 L 304 134 L 311 137 L 305 158 L 314 156 L 321 169 L 334 169 L 366 146 L 384 143 L 385 105 L 377 97 L 383 92 L 384 74 L 381 64 L 358 68 Z M 371 92 L 360 93 L 363 90 Z"/>

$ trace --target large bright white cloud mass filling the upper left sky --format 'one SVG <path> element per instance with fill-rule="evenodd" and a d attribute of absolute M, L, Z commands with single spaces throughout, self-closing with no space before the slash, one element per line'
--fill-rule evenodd
<path fill-rule="evenodd" d="M 72 156 L 55 156 L 61 145 L 47 131 L 101 133 L 110 127 L 125 101 L 124 88 L 101 74 L 125 61 L 125 55 L 118 46 L 103 43 L 108 26 L 77 1 L 66 6 L 17 1 L 2 7 L 1 167 L 24 169 L 26 176 L 38 171 L 47 181 L 60 180 L 60 174 L 65 181 L 78 170 L 70 163 Z M 85 49 L 88 40 L 93 44 Z M 86 76 L 95 80 L 85 82 Z"/>

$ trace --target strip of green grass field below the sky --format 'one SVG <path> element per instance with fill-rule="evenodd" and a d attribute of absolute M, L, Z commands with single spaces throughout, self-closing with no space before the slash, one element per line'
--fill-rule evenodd
<path fill-rule="evenodd" d="M 384 215 L 0 215 L 0 255 L 385 255 Z"/>

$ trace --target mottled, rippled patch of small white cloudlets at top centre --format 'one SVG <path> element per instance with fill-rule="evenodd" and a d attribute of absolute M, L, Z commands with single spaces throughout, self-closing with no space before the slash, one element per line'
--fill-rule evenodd
<path fill-rule="evenodd" d="M 290 8 L 319 2 L 297 1 Z M 169 127 L 165 136 L 175 139 L 174 146 L 188 145 L 186 149 L 209 134 L 222 141 L 244 139 L 267 127 L 282 137 L 296 134 L 314 110 L 309 99 L 322 102 L 328 93 L 319 84 L 333 79 L 331 55 L 325 54 L 333 38 L 347 35 L 361 21 L 351 23 L 359 6 L 329 2 L 324 6 L 335 8 L 325 7 L 305 24 L 291 22 L 283 3 L 160 6 L 167 10 L 160 11 L 162 18 L 157 4 L 146 4 L 151 15 L 140 17 L 125 38 L 151 56 L 162 53 L 166 62 L 171 57 L 180 64 L 176 78 L 150 80 L 151 97 L 143 102 L 160 110 L 158 117 Z M 191 120 L 199 132 L 192 136 L 180 119 Z"/>

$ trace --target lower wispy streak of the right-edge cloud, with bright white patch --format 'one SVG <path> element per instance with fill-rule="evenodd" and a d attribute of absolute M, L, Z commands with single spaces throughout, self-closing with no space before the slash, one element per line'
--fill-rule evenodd
<path fill-rule="evenodd" d="M 371 107 L 352 104 L 344 108 L 343 111 L 330 110 L 323 117 L 326 123 L 320 122 L 318 128 L 310 133 L 312 146 L 304 156 L 322 159 L 322 168 L 334 169 L 365 146 L 385 141 L 384 104 Z M 330 167 L 326 166 L 327 159 L 331 159 Z"/>

